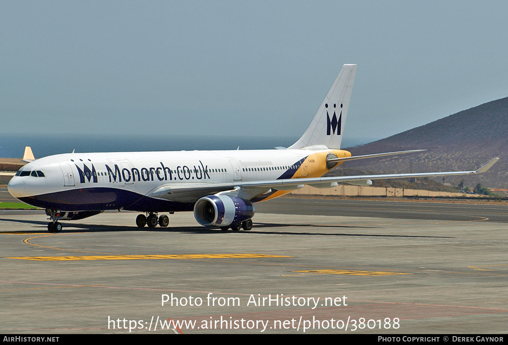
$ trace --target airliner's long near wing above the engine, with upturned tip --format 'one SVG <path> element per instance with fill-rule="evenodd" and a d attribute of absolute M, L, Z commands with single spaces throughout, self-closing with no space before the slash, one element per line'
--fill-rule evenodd
<path fill-rule="evenodd" d="M 309 185 L 317 188 L 331 188 L 337 186 L 338 183 L 348 183 L 360 186 L 369 186 L 371 180 L 384 179 L 401 179 L 401 178 L 417 178 L 417 177 L 435 177 L 435 176 L 452 176 L 452 175 L 471 175 L 481 174 L 494 165 L 499 158 L 490 160 L 477 170 L 470 171 L 441 171 L 441 172 L 422 172 L 420 174 L 386 174 L 386 175 L 357 175 L 357 176 L 336 176 L 336 177 L 320 177 L 320 178 L 300 178 L 300 179 L 284 179 L 284 180 L 267 180 L 267 181 L 236 181 L 223 184 L 186 184 L 186 185 L 162 185 L 147 196 L 155 198 L 163 198 L 173 201 L 196 201 L 199 198 L 226 191 L 251 190 L 251 192 L 241 193 L 243 195 L 251 195 L 252 197 L 261 194 L 269 189 L 277 190 L 294 190 Z"/>

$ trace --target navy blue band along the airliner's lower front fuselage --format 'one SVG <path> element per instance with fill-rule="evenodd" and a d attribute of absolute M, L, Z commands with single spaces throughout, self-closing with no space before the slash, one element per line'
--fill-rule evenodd
<path fill-rule="evenodd" d="M 150 198 L 116 188 L 83 188 L 19 198 L 27 204 L 61 211 L 118 210 L 138 212 L 192 211 L 193 202 Z"/>

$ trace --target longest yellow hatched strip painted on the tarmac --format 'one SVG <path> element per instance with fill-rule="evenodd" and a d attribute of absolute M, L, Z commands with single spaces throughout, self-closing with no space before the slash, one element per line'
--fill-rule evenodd
<path fill-rule="evenodd" d="M 267 254 L 180 254 L 180 255 L 87 255 L 87 256 L 18 256 L 6 259 L 34 261 L 80 261 L 80 260 L 160 260 L 160 259 L 244 259 L 244 258 L 291 258 Z"/>

